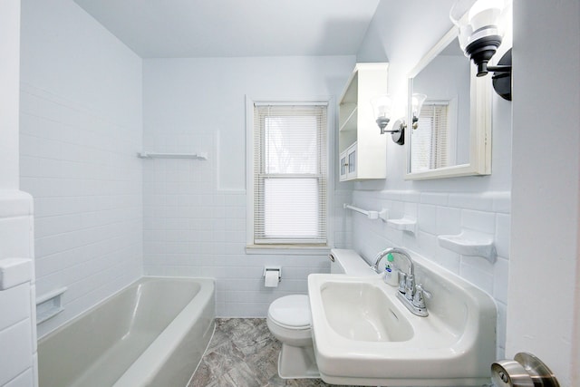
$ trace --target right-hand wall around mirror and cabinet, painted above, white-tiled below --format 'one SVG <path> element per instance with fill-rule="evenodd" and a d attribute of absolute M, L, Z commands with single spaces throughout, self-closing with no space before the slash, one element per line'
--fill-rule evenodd
<path fill-rule="evenodd" d="M 388 58 L 389 93 L 396 103 L 393 116 L 405 114 L 407 74 L 452 27 L 449 9 L 453 3 L 410 0 L 379 4 L 357 60 Z M 407 247 L 478 285 L 498 305 L 498 357 L 503 357 L 510 255 L 511 104 L 494 94 L 493 111 L 490 176 L 404 180 L 406 149 L 388 141 L 387 179 L 356 183 L 353 201 L 362 208 L 388 208 L 390 218 L 415 218 L 418 229 L 411 234 L 353 214 L 353 247 L 368 260 L 385 247 Z M 494 237 L 495 264 L 439 246 L 438 235 L 459 234 L 465 229 Z"/>

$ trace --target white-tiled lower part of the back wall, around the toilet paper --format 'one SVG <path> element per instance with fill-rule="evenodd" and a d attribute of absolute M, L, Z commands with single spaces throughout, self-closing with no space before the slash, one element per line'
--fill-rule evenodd
<path fill-rule="evenodd" d="M 208 160 L 143 160 L 143 263 L 145 275 L 205 276 L 217 280 L 220 317 L 264 317 L 272 301 L 306 294 L 307 276 L 330 270 L 326 255 L 246 253 L 246 193 L 217 189 L 217 144 L 208 134 L 158 135 L 155 151 L 208 152 Z M 153 150 L 151 150 L 153 151 Z M 333 198 L 333 237 L 346 247 L 349 191 Z M 282 281 L 266 288 L 265 266 L 281 266 Z"/>

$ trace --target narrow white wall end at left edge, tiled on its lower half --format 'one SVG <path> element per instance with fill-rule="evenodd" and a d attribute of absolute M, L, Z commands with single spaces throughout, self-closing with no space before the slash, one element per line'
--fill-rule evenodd
<path fill-rule="evenodd" d="M 37 382 L 34 324 L 32 198 L 19 191 L 18 107 L 20 1 L 0 2 L 0 386 Z M 27 276 L 13 276 L 14 260 L 29 260 Z M 26 264 L 28 265 L 28 264 Z"/>

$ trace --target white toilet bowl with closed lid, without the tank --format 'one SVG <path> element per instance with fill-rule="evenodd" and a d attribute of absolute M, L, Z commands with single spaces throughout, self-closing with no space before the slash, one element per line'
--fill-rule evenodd
<path fill-rule="evenodd" d="M 283 379 L 320 378 L 314 359 L 310 302 L 307 295 L 285 295 L 268 308 L 266 323 L 282 343 L 278 374 Z"/>

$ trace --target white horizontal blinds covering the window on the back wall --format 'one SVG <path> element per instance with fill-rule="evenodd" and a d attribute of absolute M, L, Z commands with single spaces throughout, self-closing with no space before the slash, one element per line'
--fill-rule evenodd
<path fill-rule="evenodd" d="M 326 106 L 254 108 L 254 243 L 326 243 Z"/>

